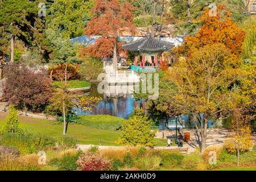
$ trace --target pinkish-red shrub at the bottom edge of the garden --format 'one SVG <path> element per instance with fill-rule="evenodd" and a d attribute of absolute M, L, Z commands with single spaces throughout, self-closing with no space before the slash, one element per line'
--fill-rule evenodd
<path fill-rule="evenodd" d="M 100 154 L 94 155 L 90 152 L 81 155 L 76 164 L 81 171 L 105 171 L 109 170 L 112 166 L 110 160 L 105 159 Z"/>

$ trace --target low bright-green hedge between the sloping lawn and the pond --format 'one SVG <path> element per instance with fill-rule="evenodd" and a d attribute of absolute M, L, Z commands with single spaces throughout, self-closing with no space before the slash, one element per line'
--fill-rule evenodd
<path fill-rule="evenodd" d="M 125 121 L 126 119 L 111 115 L 82 115 L 77 118 L 77 123 L 81 125 L 113 131 L 120 129 Z"/>

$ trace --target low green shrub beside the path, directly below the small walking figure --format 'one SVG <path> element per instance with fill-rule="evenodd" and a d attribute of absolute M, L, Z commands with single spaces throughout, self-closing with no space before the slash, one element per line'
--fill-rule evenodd
<path fill-rule="evenodd" d="M 184 155 L 180 152 L 172 152 L 168 150 L 154 151 L 153 155 L 160 156 L 162 158 L 161 163 L 165 167 L 178 166 L 184 158 Z"/>

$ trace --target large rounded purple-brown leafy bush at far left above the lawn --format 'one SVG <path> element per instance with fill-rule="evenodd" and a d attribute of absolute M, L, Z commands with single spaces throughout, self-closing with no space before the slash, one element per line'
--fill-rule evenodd
<path fill-rule="evenodd" d="M 43 109 L 51 97 L 51 81 L 45 70 L 33 71 L 23 64 L 10 64 L 3 69 L 6 78 L 3 100 L 27 109 Z"/>

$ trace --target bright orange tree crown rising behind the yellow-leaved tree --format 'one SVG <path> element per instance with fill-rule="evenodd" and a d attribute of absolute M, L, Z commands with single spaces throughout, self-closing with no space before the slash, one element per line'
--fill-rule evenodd
<path fill-rule="evenodd" d="M 225 12 L 224 15 L 222 12 Z M 238 28 L 237 24 L 228 16 L 229 12 L 225 11 L 224 6 L 217 7 L 217 16 L 210 16 L 209 9 L 205 10 L 200 18 L 203 27 L 195 37 L 188 36 L 185 38 L 183 46 L 178 47 L 176 52 L 187 56 L 192 53 L 194 48 L 204 47 L 213 43 L 222 43 L 232 53 L 239 55 L 242 52 L 245 31 Z"/>

